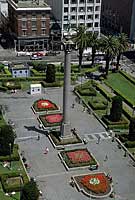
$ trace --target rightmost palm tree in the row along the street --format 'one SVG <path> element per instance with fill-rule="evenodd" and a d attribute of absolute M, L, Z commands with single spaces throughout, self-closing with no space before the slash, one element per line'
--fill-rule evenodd
<path fill-rule="evenodd" d="M 119 67 L 121 54 L 128 49 L 128 37 L 125 33 L 120 33 L 117 37 L 118 45 L 117 45 L 117 69 Z"/>

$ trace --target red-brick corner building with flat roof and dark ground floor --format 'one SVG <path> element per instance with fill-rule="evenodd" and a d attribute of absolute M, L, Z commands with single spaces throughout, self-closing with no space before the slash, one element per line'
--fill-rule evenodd
<path fill-rule="evenodd" d="M 50 11 L 44 0 L 8 0 L 10 29 L 19 51 L 48 48 Z"/>

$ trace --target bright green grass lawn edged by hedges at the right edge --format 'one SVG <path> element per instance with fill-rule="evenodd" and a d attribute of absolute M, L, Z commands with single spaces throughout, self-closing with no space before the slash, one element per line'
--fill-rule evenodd
<path fill-rule="evenodd" d="M 126 99 L 129 99 L 132 104 L 135 104 L 135 85 L 128 81 L 120 73 L 112 73 L 108 75 L 105 82 L 114 90 L 117 89 Z"/>

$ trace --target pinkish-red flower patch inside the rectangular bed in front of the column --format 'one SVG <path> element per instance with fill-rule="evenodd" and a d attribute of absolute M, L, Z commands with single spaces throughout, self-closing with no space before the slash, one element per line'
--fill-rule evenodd
<path fill-rule="evenodd" d="M 67 152 L 67 156 L 72 163 L 89 162 L 92 158 L 86 150 Z"/>

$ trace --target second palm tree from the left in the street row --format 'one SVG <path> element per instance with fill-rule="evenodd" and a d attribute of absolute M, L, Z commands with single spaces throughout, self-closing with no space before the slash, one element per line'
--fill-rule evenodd
<path fill-rule="evenodd" d="M 92 48 L 92 65 L 94 64 L 95 56 L 96 56 L 96 50 L 99 48 L 99 39 L 98 34 L 96 33 L 89 33 L 89 47 Z"/>

